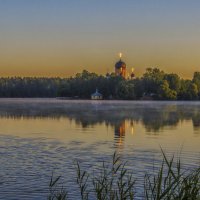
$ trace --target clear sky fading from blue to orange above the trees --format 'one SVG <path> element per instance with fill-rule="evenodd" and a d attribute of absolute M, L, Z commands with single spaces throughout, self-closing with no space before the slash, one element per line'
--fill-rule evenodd
<path fill-rule="evenodd" d="M 199 0 L 0 0 L 0 76 L 114 71 L 122 52 L 191 78 L 200 71 Z"/>

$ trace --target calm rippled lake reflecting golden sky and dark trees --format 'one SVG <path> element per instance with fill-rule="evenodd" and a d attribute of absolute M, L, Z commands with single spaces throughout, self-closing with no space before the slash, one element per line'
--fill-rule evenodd
<path fill-rule="evenodd" d="M 46 199 L 52 172 L 78 199 L 75 160 L 92 171 L 115 151 L 140 199 L 161 147 L 184 168 L 200 164 L 200 102 L 0 99 L 0 199 Z"/>

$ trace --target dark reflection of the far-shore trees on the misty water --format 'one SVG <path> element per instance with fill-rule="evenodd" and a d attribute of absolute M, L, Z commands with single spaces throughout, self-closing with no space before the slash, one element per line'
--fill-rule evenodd
<path fill-rule="evenodd" d="M 192 120 L 200 129 L 200 104 L 176 102 L 116 102 L 91 103 L 90 101 L 39 101 L 0 102 L 1 117 L 67 117 L 83 128 L 105 123 L 119 133 L 125 120 L 141 122 L 147 131 L 158 132 L 165 126 L 176 127 L 183 120 Z M 123 131 L 121 131 L 123 133 Z M 120 135 L 120 134 L 118 134 Z M 123 134 L 121 134 L 123 135 Z"/>

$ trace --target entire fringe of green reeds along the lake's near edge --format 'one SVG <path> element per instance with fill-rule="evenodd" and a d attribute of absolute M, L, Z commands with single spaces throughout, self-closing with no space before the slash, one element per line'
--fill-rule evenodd
<path fill-rule="evenodd" d="M 163 161 L 154 175 L 144 175 L 144 200 L 200 200 L 200 167 L 185 171 L 180 159 L 168 159 L 161 149 Z M 80 191 L 80 199 L 98 200 L 133 200 L 136 198 L 136 179 L 126 168 L 117 153 L 114 153 L 111 164 L 102 163 L 98 172 L 89 174 L 76 162 L 76 183 Z M 49 200 L 66 200 L 67 192 L 57 188 L 60 177 L 51 178 Z"/>

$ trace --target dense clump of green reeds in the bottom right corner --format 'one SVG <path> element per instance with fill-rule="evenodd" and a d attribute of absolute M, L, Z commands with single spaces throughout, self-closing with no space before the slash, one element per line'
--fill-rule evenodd
<path fill-rule="evenodd" d="M 162 150 L 163 163 L 157 175 L 145 175 L 145 200 L 198 200 L 200 198 L 200 168 L 186 173 L 180 159 L 168 160 Z"/>

